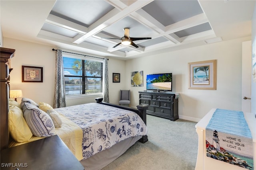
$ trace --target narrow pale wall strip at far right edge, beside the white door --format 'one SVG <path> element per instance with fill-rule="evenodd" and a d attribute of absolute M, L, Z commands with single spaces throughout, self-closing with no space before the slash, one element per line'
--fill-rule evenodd
<path fill-rule="evenodd" d="M 256 60 L 256 5 L 252 16 L 252 55 L 254 56 L 254 62 Z M 252 62 L 252 64 L 254 64 Z M 252 113 L 256 116 L 256 83 L 252 80 Z"/>

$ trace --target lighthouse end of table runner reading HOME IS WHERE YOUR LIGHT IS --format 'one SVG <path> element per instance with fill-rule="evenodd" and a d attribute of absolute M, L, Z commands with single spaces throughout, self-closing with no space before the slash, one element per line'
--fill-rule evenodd
<path fill-rule="evenodd" d="M 207 130 L 206 155 L 249 170 L 254 169 L 252 140 L 247 137 Z"/>

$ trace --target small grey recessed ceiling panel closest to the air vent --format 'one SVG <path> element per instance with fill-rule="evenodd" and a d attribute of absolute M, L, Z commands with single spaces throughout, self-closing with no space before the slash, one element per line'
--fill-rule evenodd
<path fill-rule="evenodd" d="M 178 37 L 185 37 L 185 36 L 188 36 L 188 35 L 192 35 L 192 34 L 195 34 L 195 33 L 200 33 L 202 31 L 207 31 L 207 30 L 210 30 L 210 29 L 212 29 L 212 28 L 211 28 L 210 24 L 207 22 L 207 23 L 203 23 L 203 24 L 200 24 L 200 25 L 196 25 L 194 27 L 190 27 L 188 29 L 184 29 L 184 30 L 175 32 L 175 34 Z"/>

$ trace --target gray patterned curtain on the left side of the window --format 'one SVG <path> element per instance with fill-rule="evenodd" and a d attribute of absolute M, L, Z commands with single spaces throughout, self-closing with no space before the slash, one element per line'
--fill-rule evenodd
<path fill-rule="evenodd" d="M 62 51 L 57 49 L 55 58 L 54 108 L 66 107 L 66 91 Z"/>

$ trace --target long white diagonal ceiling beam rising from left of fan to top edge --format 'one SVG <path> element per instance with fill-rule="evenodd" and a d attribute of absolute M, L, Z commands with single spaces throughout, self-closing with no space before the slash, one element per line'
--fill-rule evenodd
<path fill-rule="evenodd" d="M 81 38 L 77 39 L 73 43 L 79 44 L 86 40 L 87 38 L 91 37 L 92 35 L 95 35 L 96 33 L 102 31 L 104 28 L 108 27 L 109 25 L 115 23 L 116 21 L 121 20 L 122 18 L 128 16 L 130 13 L 142 8 L 146 4 L 152 2 L 153 0 L 137 0 L 130 6 L 124 8 L 124 10 L 119 11 L 118 9 L 114 8 L 108 14 L 100 18 L 98 21 L 93 23 L 88 27 L 88 33 L 86 33 Z"/>

